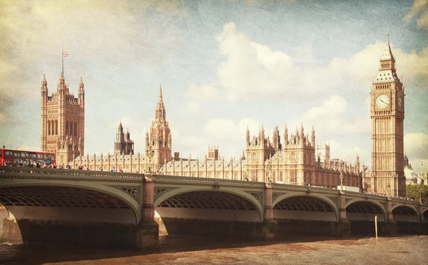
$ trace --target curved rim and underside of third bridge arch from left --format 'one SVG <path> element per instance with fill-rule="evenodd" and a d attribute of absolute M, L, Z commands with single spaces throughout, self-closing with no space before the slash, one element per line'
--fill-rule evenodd
<path fill-rule="evenodd" d="M 334 214 L 335 221 L 339 220 L 337 206 L 335 202 L 333 202 L 330 198 L 328 198 L 327 196 L 313 194 L 313 193 L 302 194 L 301 192 L 290 192 L 290 193 L 277 196 L 272 201 L 272 207 L 274 209 L 274 218 L 275 218 L 275 206 L 277 206 L 276 208 L 280 208 L 278 207 L 278 204 L 280 204 L 282 201 L 286 201 L 287 199 L 291 199 L 291 198 L 297 199 L 298 197 L 301 197 L 305 201 L 302 201 L 302 204 L 304 205 L 300 205 L 300 206 L 297 205 L 297 204 L 300 204 L 299 201 L 296 201 L 296 200 L 290 201 L 290 204 L 292 205 L 294 204 L 296 209 L 304 209 L 306 207 L 308 211 L 310 211 L 311 209 L 315 211 L 317 211 L 317 209 L 323 209 L 324 211 L 329 211 L 327 207 L 330 207 L 332 213 Z"/>

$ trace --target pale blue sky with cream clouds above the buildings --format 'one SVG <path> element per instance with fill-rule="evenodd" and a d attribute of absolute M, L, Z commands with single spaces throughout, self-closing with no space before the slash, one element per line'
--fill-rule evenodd
<path fill-rule="evenodd" d="M 315 128 L 332 158 L 371 164 L 370 89 L 386 45 L 404 84 L 404 151 L 428 171 L 428 0 L 0 0 L 0 144 L 40 150 L 41 80 L 86 91 L 85 152 L 122 122 L 142 154 L 162 85 L 173 152 L 225 159 L 245 130 Z"/>

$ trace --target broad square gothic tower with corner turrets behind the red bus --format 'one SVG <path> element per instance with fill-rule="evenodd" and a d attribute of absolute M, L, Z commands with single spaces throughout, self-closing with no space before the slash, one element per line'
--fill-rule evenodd
<path fill-rule="evenodd" d="M 45 75 L 41 81 L 41 151 L 56 153 L 58 165 L 73 164 L 84 154 L 85 91 L 82 78 L 78 84 L 78 97 L 70 94 L 63 72 L 56 93 L 49 96 Z"/>

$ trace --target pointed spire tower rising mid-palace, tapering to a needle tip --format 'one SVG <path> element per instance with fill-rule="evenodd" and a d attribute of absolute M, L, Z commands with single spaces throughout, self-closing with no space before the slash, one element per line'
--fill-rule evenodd
<path fill-rule="evenodd" d="M 146 133 L 146 151 L 149 149 L 153 151 L 151 164 L 161 165 L 171 161 L 171 134 L 163 106 L 162 86 L 159 88 L 158 105 L 150 128 L 150 136 L 148 132 Z"/>

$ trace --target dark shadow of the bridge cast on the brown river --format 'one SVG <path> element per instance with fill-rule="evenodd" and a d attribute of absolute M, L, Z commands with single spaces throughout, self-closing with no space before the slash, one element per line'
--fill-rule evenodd
<path fill-rule="evenodd" d="M 160 248 L 151 251 L 133 251 L 109 249 L 98 246 L 71 246 L 51 244 L 8 244 L 0 243 L 0 264 L 46 264 L 55 262 L 91 261 L 98 259 L 115 259 L 128 256 L 145 256 L 149 254 L 183 253 L 211 249 L 239 249 L 275 244 L 297 244 L 315 241 L 358 240 L 370 236 L 349 236 L 344 238 L 330 236 L 290 236 L 274 241 L 257 241 L 255 239 L 234 239 L 224 237 L 202 236 L 161 236 Z M 346 242 L 346 243 L 345 243 Z"/>

